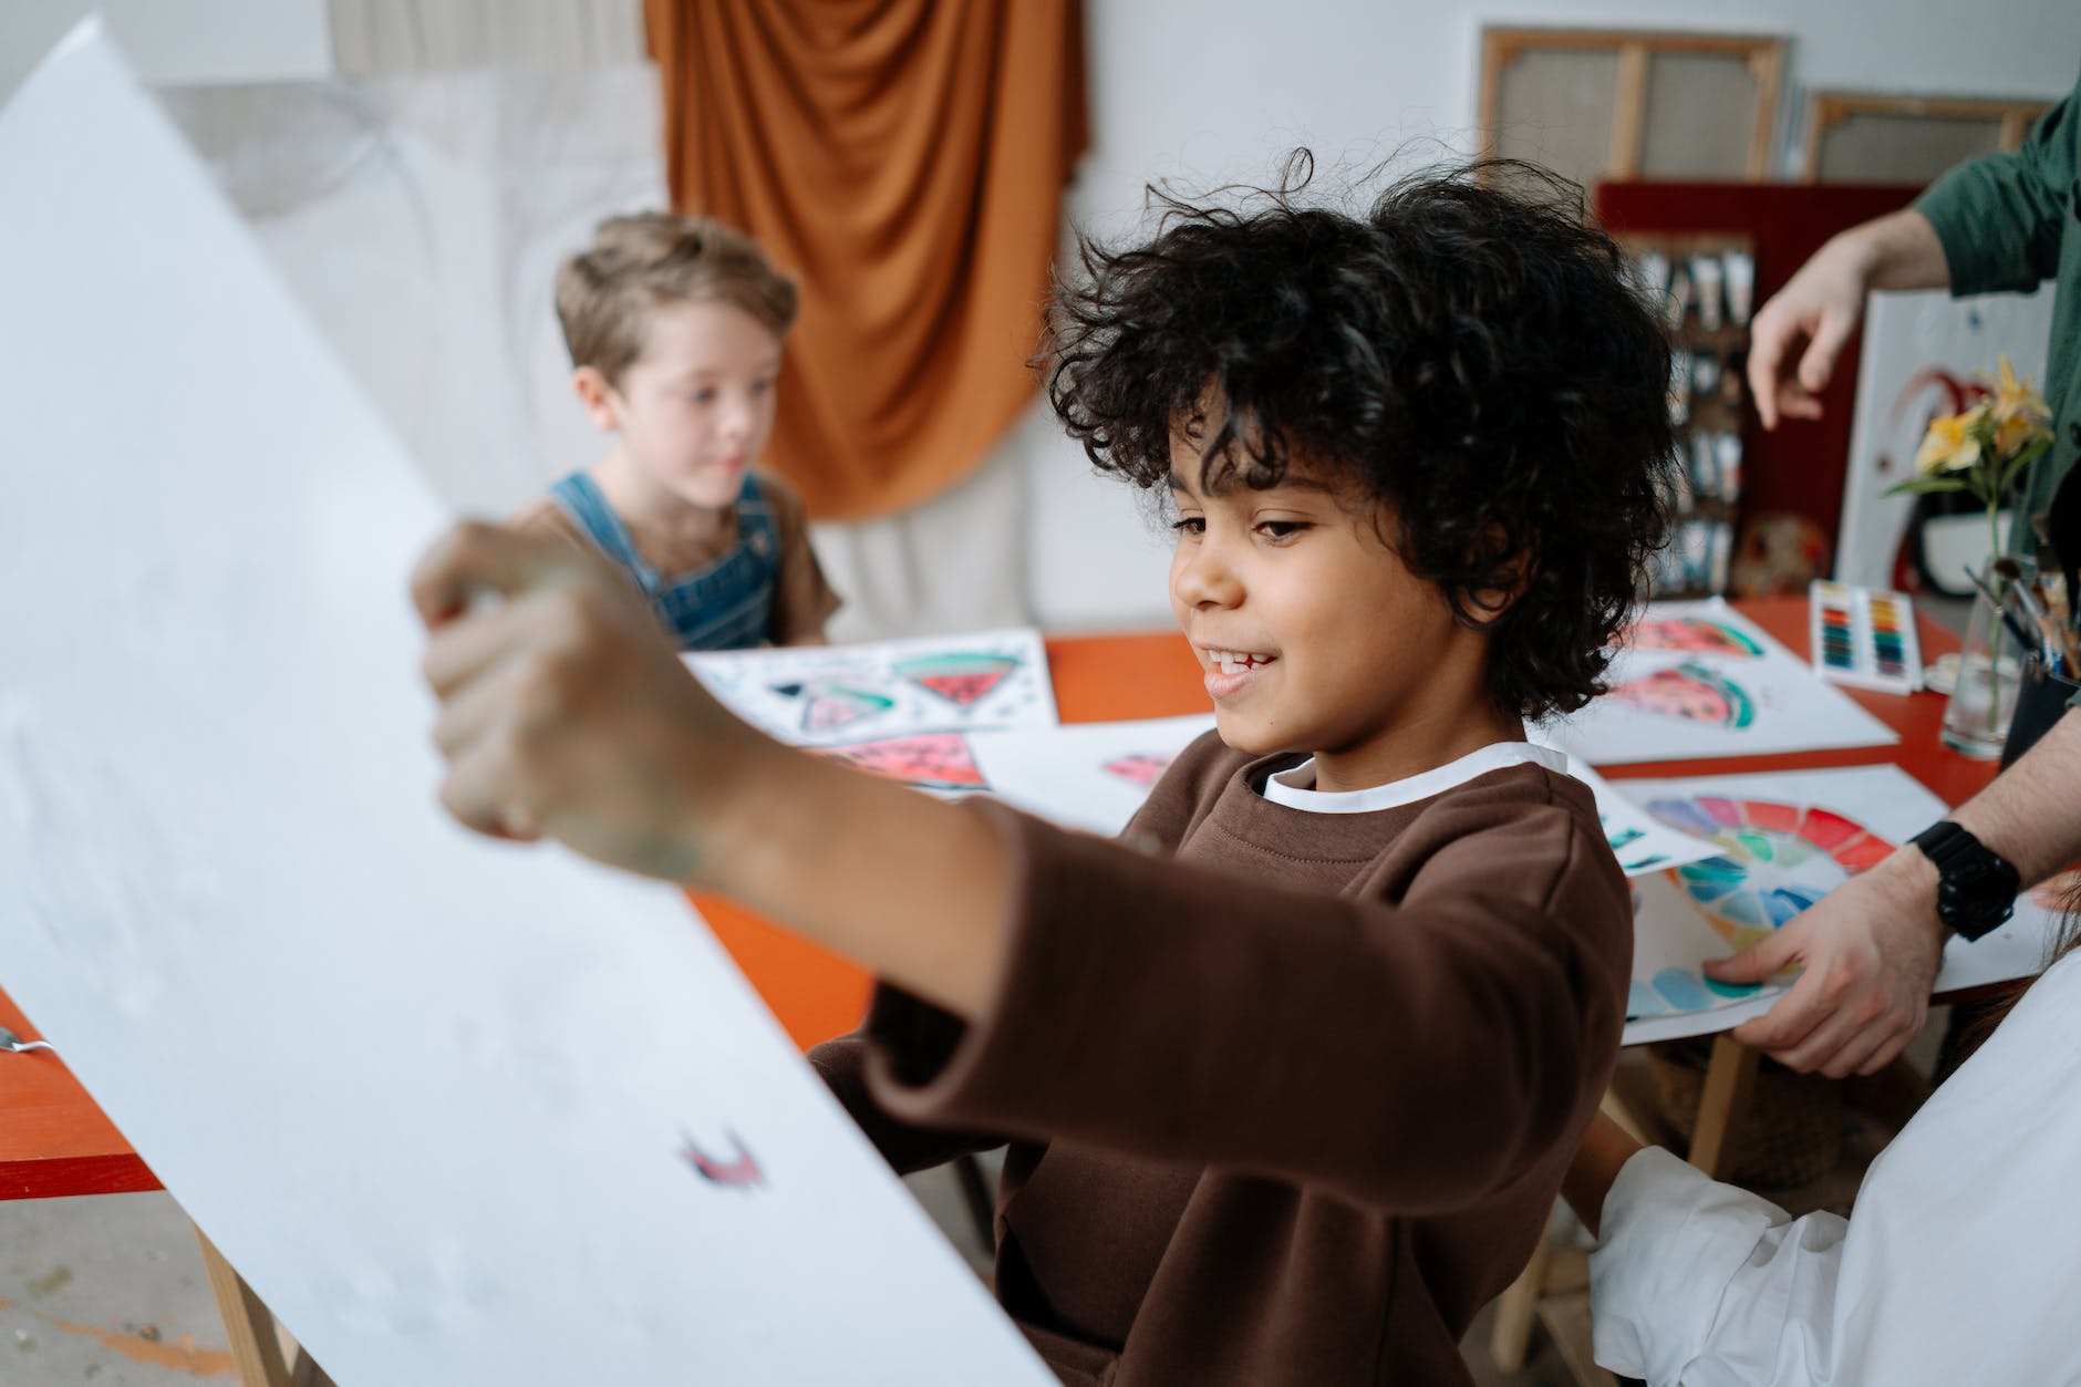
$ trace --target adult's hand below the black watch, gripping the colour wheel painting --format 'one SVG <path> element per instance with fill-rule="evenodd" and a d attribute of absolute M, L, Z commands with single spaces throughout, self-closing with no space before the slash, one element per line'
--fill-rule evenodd
<path fill-rule="evenodd" d="M 1733 1039 L 1788 1068 L 1842 1079 L 1883 1068 L 1915 1039 L 1942 956 L 1935 868 L 1906 848 L 1704 970 L 1723 983 L 1761 983 L 1802 964 L 1792 991 Z"/>

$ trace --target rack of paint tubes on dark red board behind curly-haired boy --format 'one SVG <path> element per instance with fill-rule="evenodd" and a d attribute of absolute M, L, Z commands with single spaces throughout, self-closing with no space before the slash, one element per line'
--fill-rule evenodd
<path fill-rule="evenodd" d="M 1677 521 L 1656 558 L 1656 598 L 1725 594 L 1742 512 L 1748 319 L 1756 256 L 1746 235 L 1627 233 L 1634 283 L 1669 327 Z"/>

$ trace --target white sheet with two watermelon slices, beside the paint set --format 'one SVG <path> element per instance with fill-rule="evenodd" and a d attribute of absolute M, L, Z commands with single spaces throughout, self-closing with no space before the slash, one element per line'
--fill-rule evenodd
<path fill-rule="evenodd" d="M 1648 604 L 1609 681 L 1588 708 L 1542 725 L 1540 739 L 1594 766 L 1900 739 L 1719 598 Z"/>

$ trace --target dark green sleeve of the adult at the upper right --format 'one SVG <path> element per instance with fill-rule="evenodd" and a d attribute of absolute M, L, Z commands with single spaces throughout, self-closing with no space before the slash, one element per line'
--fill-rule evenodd
<path fill-rule="evenodd" d="M 2073 92 L 2031 125 L 2023 148 L 1958 165 L 1915 200 L 1944 244 L 1952 294 L 2029 292 L 2060 267 L 2075 181 Z"/>

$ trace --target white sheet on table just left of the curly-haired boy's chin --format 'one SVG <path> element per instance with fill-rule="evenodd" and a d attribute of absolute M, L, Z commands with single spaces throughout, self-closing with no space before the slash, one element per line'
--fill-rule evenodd
<path fill-rule="evenodd" d="M 1065 829 L 1115 835 L 1213 714 L 970 735 L 988 791 Z"/>

